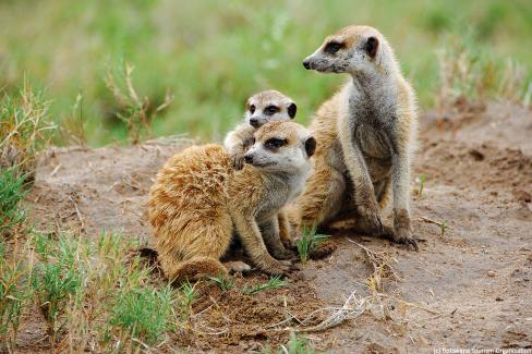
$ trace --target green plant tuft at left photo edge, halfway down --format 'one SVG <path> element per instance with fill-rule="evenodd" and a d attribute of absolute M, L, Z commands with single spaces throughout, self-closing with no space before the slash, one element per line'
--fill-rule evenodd
<path fill-rule="evenodd" d="M 26 218 L 20 202 L 24 198 L 25 176 L 17 175 L 16 168 L 0 170 L 0 236 Z"/>

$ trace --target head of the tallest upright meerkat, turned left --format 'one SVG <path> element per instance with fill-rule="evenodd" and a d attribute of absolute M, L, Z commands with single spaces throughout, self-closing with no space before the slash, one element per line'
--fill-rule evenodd
<path fill-rule="evenodd" d="M 303 61 L 307 70 L 323 73 L 364 73 L 394 69 L 394 53 L 384 36 L 370 26 L 348 26 L 325 38 Z"/>

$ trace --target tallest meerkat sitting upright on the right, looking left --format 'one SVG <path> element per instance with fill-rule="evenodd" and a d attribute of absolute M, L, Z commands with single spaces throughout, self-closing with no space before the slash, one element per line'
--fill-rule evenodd
<path fill-rule="evenodd" d="M 388 41 L 373 27 L 348 26 L 328 36 L 303 65 L 351 77 L 311 124 L 319 145 L 295 203 L 297 223 L 310 228 L 349 217 L 361 232 L 390 235 L 418 249 L 409 206 L 416 98 Z M 390 191 L 394 228 L 382 222 Z"/>

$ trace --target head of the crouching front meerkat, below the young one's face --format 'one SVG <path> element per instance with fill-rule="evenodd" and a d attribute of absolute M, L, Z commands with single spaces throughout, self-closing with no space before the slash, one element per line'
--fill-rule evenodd
<path fill-rule="evenodd" d="M 254 134 L 255 143 L 244 156 L 246 163 L 269 172 L 300 173 L 309 169 L 316 139 L 301 124 L 269 122 Z"/>

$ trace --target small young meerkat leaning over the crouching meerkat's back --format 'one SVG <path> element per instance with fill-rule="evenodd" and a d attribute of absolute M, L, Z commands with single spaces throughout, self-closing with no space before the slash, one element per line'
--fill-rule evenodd
<path fill-rule="evenodd" d="M 233 168 L 241 170 L 244 154 L 253 145 L 253 134 L 267 122 L 289 121 L 295 118 L 298 106 L 288 96 L 268 89 L 251 96 L 245 103 L 244 123 L 229 132 L 223 141 Z"/>

